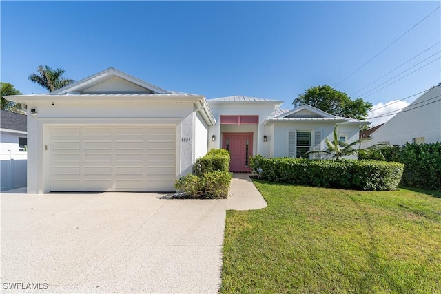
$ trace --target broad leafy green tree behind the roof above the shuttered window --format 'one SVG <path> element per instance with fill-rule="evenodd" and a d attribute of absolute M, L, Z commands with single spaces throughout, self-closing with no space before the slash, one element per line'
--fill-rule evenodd
<path fill-rule="evenodd" d="M 334 116 L 365 119 L 372 104 L 362 98 L 351 100 L 349 96 L 329 85 L 310 87 L 305 93 L 298 95 L 292 103 L 294 107 L 309 104 Z"/>

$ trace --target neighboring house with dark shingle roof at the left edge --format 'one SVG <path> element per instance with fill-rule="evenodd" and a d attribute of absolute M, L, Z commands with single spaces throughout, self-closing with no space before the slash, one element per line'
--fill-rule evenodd
<path fill-rule="evenodd" d="M 1 110 L 0 120 L 1 153 L 25 151 L 25 145 L 27 145 L 26 115 Z"/>

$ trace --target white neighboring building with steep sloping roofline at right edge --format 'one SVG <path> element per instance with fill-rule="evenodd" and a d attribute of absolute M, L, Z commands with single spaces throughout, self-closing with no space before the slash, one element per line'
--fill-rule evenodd
<path fill-rule="evenodd" d="M 363 145 L 441 142 L 441 86 L 431 87 L 424 92 L 372 132 L 371 138 L 371 141 Z"/>

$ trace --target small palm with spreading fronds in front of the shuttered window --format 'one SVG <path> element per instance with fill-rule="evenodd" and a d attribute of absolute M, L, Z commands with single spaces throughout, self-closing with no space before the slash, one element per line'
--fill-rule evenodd
<path fill-rule="evenodd" d="M 372 140 L 372 138 L 361 138 L 359 140 L 353 141 L 352 143 L 346 143 L 341 140 L 339 140 L 338 136 L 338 129 L 337 125 L 334 127 L 334 132 L 332 133 L 332 136 L 334 137 L 333 140 L 329 140 L 328 138 L 325 139 L 325 143 L 328 147 L 327 150 L 314 150 L 309 151 L 305 154 L 327 154 L 332 159 L 341 159 L 344 156 L 351 156 L 359 154 L 363 154 L 367 156 L 368 154 L 375 154 L 376 156 L 380 156 L 380 158 L 384 159 L 384 156 L 382 155 L 380 148 L 384 147 L 387 144 L 376 144 L 372 145 L 370 147 L 367 147 L 366 149 L 361 148 L 361 143 Z M 356 145 L 359 145 L 359 148 L 354 148 Z"/>

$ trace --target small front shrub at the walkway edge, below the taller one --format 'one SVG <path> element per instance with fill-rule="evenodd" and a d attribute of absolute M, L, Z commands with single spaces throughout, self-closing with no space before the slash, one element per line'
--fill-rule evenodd
<path fill-rule="evenodd" d="M 227 198 L 232 174 L 228 171 L 209 171 L 203 176 L 205 196 L 209 198 Z"/>

